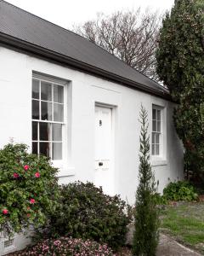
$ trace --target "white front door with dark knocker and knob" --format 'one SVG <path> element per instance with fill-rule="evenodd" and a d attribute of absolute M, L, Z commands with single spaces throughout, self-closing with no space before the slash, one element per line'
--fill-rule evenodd
<path fill-rule="evenodd" d="M 114 193 L 112 109 L 95 107 L 95 185 Z"/>

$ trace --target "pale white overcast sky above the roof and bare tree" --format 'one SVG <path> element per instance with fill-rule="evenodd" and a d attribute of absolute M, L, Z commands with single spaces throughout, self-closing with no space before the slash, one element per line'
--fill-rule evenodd
<path fill-rule="evenodd" d="M 171 9 L 174 0 L 7 0 L 59 26 L 71 28 L 86 20 L 93 20 L 97 13 L 109 15 L 117 10 L 149 8 L 164 12 Z"/>

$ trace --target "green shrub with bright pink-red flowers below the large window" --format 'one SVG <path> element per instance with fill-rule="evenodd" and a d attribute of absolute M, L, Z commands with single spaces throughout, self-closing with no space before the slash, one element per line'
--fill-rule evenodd
<path fill-rule="evenodd" d="M 0 231 L 45 223 L 58 198 L 56 172 L 47 158 L 28 154 L 24 144 L 0 150 Z"/>

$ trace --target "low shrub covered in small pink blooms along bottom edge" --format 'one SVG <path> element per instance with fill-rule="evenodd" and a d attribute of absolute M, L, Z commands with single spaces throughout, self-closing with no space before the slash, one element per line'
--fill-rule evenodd
<path fill-rule="evenodd" d="M 60 237 L 59 239 L 47 239 L 37 243 L 33 247 L 28 247 L 22 252 L 16 252 L 13 256 L 23 255 L 46 255 L 46 256 L 72 256 L 72 255 L 103 255 L 112 256 L 111 248 L 105 244 L 99 244 L 96 241 L 82 241 L 82 239 L 73 239 Z"/>

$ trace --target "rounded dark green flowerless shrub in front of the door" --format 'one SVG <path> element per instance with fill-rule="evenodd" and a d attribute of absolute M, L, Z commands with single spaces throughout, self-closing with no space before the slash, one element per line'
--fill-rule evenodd
<path fill-rule="evenodd" d="M 61 186 L 60 207 L 53 212 L 42 236 L 72 236 L 105 242 L 116 249 L 125 242 L 128 206 L 118 195 L 103 194 L 93 183 Z"/>

